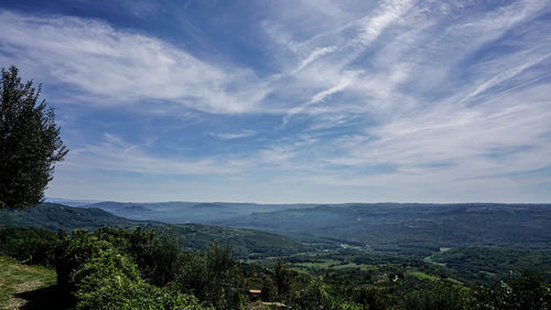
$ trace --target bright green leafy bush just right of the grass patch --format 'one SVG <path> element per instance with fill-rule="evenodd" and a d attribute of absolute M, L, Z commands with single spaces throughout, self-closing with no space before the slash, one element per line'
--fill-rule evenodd
<path fill-rule="evenodd" d="M 152 233 L 150 239 L 155 236 Z M 69 306 L 80 310 L 205 309 L 195 297 L 174 290 L 174 285 L 160 288 L 145 281 L 134 257 L 126 253 L 129 239 L 129 233 L 102 228 L 94 234 L 74 231 L 61 240 L 55 266 Z"/>

